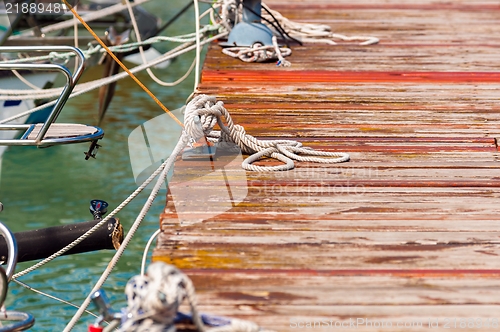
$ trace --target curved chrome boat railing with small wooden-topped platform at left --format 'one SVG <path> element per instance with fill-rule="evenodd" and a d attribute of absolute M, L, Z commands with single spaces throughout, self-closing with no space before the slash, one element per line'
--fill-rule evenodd
<path fill-rule="evenodd" d="M 72 46 L 1 46 L 0 53 L 11 52 L 71 52 L 76 55 L 78 66 L 74 73 L 64 65 L 53 63 L 0 63 L 0 70 L 57 71 L 63 74 L 66 83 L 53 106 L 47 120 L 39 124 L 0 124 L 0 130 L 25 130 L 21 138 L 2 139 L 0 145 L 51 146 L 59 144 L 96 141 L 104 135 L 101 128 L 81 124 L 55 124 L 76 82 L 81 77 L 85 56 Z"/>

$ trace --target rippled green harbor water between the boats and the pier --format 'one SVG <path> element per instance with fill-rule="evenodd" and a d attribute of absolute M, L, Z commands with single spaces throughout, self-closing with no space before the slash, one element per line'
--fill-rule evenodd
<path fill-rule="evenodd" d="M 163 21 L 168 20 L 183 6 L 184 2 L 153 1 L 147 9 Z M 206 8 L 203 7 L 203 8 Z M 194 13 L 191 9 L 165 31 L 165 35 L 189 33 L 194 30 Z M 166 51 L 175 45 L 161 45 Z M 155 70 L 162 79 L 174 81 L 191 65 L 194 52 L 176 60 L 166 69 Z M 95 79 L 102 74 L 101 67 L 89 69 L 83 81 Z M 138 77 L 169 108 L 181 107 L 193 91 L 194 74 L 176 87 L 161 87 L 146 73 Z M 6 88 L 6 87 L 3 87 Z M 98 93 L 93 91 L 71 99 L 58 122 L 97 123 Z M 56 146 L 46 149 L 32 147 L 9 148 L 3 157 L 0 179 L 0 201 L 5 209 L 0 220 L 12 231 L 72 224 L 91 220 L 89 202 L 103 199 L 113 210 L 137 187 L 133 177 L 128 152 L 128 136 L 133 129 L 155 116 L 164 114 L 153 100 L 130 78 L 119 82 L 114 99 L 108 109 L 102 128 L 105 130 L 97 159 L 86 161 L 84 151 L 89 144 Z M 171 149 L 180 134 L 180 127 L 172 120 L 165 135 L 171 137 Z M 118 213 L 127 231 L 137 217 L 148 193 L 141 193 L 132 203 Z M 126 282 L 139 273 L 143 248 L 159 226 L 159 214 L 165 205 L 163 190 L 133 238 L 124 256 L 116 266 L 104 289 L 116 309 L 125 305 L 123 294 Z M 93 285 L 105 270 L 114 251 L 92 252 L 59 257 L 19 280 L 43 292 L 81 304 Z M 35 262 L 18 264 L 16 272 Z M 10 283 L 6 301 L 8 310 L 25 311 L 36 319 L 31 331 L 62 331 L 76 309 Z M 90 309 L 94 310 L 91 306 Z M 75 331 L 86 331 L 94 318 L 84 315 Z"/>

